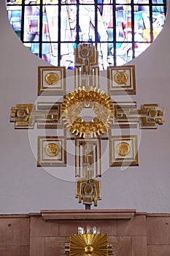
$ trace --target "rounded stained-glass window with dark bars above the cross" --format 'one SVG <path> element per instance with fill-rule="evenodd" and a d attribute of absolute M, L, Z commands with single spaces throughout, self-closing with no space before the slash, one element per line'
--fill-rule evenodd
<path fill-rule="evenodd" d="M 166 0 L 7 0 L 12 28 L 32 53 L 74 67 L 74 48 L 96 45 L 100 69 L 139 56 L 158 36 Z"/>

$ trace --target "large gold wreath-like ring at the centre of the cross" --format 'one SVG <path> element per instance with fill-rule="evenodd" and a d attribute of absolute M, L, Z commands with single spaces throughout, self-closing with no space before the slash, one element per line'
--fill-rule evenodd
<path fill-rule="evenodd" d="M 84 121 L 80 117 L 82 108 L 92 108 L 95 117 Z M 110 97 L 99 89 L 76 89 L 67 94 L 61 107 L 63 123 L 72 134 L 93 138 L 107 132 L 112 124 L 114 107 Z"/>

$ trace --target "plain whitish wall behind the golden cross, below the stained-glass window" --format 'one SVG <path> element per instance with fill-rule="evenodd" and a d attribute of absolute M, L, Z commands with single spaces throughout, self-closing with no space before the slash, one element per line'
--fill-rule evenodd
<path fill-rule="evenodd" d="M 104 173 L 98 208 L 170 212 L 169 19 L 152 46 L 131 61 L 136 66 L 137 89 L 132 99 L 138 102 L 138 108 L 143 103 L 160 104 L 166 111 L 165 123 L 157 130 L 142 131 L 139 167 L 124 171 L 112 167 Z M 9 122 L 12 106 L 36 101 L 37 67 L 47 63 L 27 50 L 12 31 L 5 1 L 0 3 L 0 31 L 0 214 L 84 208 L 74 197 L 74 182 L 36 167 L 28 130 L 16 130 Z M 104 159 L 107 161 L 107 157 Z M 55 173 L 62 171 L 66 173 L 55 168 Z"/>

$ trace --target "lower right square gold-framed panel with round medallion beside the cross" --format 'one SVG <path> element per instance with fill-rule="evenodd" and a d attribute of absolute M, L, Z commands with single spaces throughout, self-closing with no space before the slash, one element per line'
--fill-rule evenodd
<path fill-rule="evenodd" d="M 109 165 L 139 165 L 137 135 L 110 136 Z"/>

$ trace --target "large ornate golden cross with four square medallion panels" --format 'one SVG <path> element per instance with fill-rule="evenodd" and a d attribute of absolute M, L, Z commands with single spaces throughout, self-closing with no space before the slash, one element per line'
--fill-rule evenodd
<path fill-rule="evenodd" d="M 158 104 L 114 102 L 114 95 L 136 94 L 134 66 L 108 67 L 107 93 L 100 89 L 98 52 L 89 44 L 75 49 L 74 91 L 66 94 L 65 67 L 38 68 L 38 94 L 63 95 L 63 102 L 37 102 L 12 107 L 10 121 L 15 129 L 69 130 L 75 140 L 75 177 L 79 203 L 87 208 L 101 199 L 101 141 L 109 140 L 109 166 L 139 165 L 136 135 L 115 135 L 112 130 L 156 129 L 163 124 L 163 109 Z M 93 110 L 86 121 L 82 110 Z M 66 140 L 63 136 L 38 137 L 38 166 L 66 167 Z"/>

